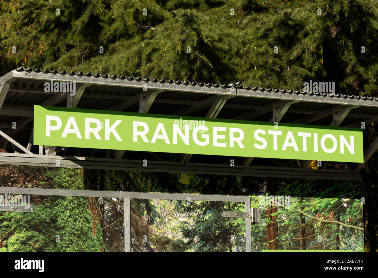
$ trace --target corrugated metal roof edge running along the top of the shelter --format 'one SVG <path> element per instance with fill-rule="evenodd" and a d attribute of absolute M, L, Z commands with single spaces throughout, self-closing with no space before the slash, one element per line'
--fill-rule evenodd
<path fill-rule="evenodd" d="M 76 73 L 75 71 L 68 72 L 66 70 L 59 71 L 50 69 L 42 70 L 41 68 L 25 68 L 19 67 L 4 76 L 0 77 L 0 83 L 6 80 L 6 77 L 10 79 L 8 74 L 14 73 L 14 77 L 22 77 L 22 78 L 31 78 L 31 79 L 48 79 L 51 80 L 53 77 L 57 78 L 57 75 L 60 75 L 59 78 L 56 80 L 60 81 L 74 81 L 77 83 L 92 83 L 98 85 L 113 85 L 113 86 L 130 86 L 134 88 L 143 87 L 144 84 L 148 86 L 148 88 L 157 89 L 157 90 L 172 90 L 172 91 L 192 91 L 196 93 L 208 93 L 208 94 L 231 94 L 231 95 L 238 95 L 238 96 L 246 96 L 246 97 L 262 97 L 262 98 L 278 98 L 278 99 L 294 99 L 294 100 L 302 100 L 302 101 L 314 101 L 314 96 L 316 96 L 316 102 L 330 102 L 331 99 L 335 99 L 335 101 L 331 101 L 331 103 L 340 103 L 346 105 L 355 105 L 356 103 L 361 105 L 368 105 L 372 107 L 378 106 L 378 102 L 375 103 L 378 99 L 375 97 L 367 97 L 367 96 L 355 96 L 355 95 L 346 95 L 346 94 L 330 94 L 330 93 L 320 93 L 320 92 L 307 92 L 301 90 L 280 90 L 280 89 L 273 89 L 273 88 L 259 88 L 259 87 L 251 87 L 251 86 L 244 86 L 242 85 L 241 81 L 230 83 L 230 84 L 223 84 L 220 83 L 205 83 L 205 82 L 190 82 L 190 81 L 182 81 L 182 80 L 167 80 L 167 79 L 152 79 L 150 77 L 143 78 L 143 77 L 135 77 L 129 76 L 126 77 L 125 75 L 118 76 L 116 74 L 110 76 L 108 74 L 101 74 L 101 73 L 84 73 L 83 71 Z M 40 74 L 44 74 L 44 78 L 40 77 Z M 29 74 L 29 76 L 27 76 Z M 70 76 L 70 77 L 68 77 Z M 77 77 L 77 78 L 76 78 Z M 88 79 L 86 82 L 82 79 L 83 77 L 87 77 Z M 72 80 L 75 79 L 75 80 Z M 100 81 L 101 79 L 106 80 L 106 82 Z M 125 84 L 126 83 L 126 84 Z M 235 89 L 235 92 L 232 90 Z M 290 97 L 288 97 L 290 96 Z M 293 97 L 295 96 L 295 97 Z M 327 100 L 322 100 L 322 98 Z M 338 99 L 338 101 L 336 101 Z M 340 101 L 341 100 L 341 101 Z"/>

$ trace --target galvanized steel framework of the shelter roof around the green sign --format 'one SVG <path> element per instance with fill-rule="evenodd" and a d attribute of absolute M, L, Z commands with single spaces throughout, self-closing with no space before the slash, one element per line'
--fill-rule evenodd
<path fill-rule="evenodd" d="M 31 70 L 25 68 L 19 68 L 17 70 L 13 70 L 4 76 L 0 77 L 0 115 L 7 115 L 7 116 L 22 116 L 26 117 L 19 122 L 17 122 L 17 126 L 20 128 L 25 128 L 29 122 L 33 120 L 32 115 L 32 106 L 27 107 L 13 107 L 12 105 L 5 105 L 2 107 L 2 103 L 5 100 L 5 96 L 8 90 L 16 90 L 20 92 L 31 92 L 31 93 L 42 93 L 42 94 L 49 94 L 45 93 L 43 89 L 40 88 L 24 88 L 24 87 L 12 87 L 12 82 L 17 80 L 28 80 L 28 83 L 32 82 L 33 80 L 54 80 L 58 82 L 75 82 L 78 84 L 77 92 L 74 97 L 70 97 L 67 93 L 58 93 L 58 94 L 51 94 L 50 98 L 39 103 L 39 105 L 56 105 L 57 102 L 67 98 L 67 107 L 76 107 L 77 103 L 80 100 L 81 96 L 89 96 L 89 97 L 100 97 L 100 98 L 114 98 L 119 99 L 119 103 L 113 105 L 112 107 L 108 108 L 108 110 L 124 110 L 130 105 L 136 104 L 139 102 L 139 112 L 147 113 L 151 104 L 155 102 L 165 102 L 170 100 L 172 103 L 174 102 L 183 102 L 182 104 L 187 103 L 187 107 L 182 108 L 181 110 L 176 111 L 173 114 L 185 116 L 186 114 L 193 113 L 193 111 L 197 111 L 198 109 L 202 109 L 207 107 L 208 105 L 212 105 L 206 117 L 217 117 L 217 114 L 222 109 L 222 107 L 232 107 L 232 108 L 240 108 L 240 109 L 247 109 L 250 110 L 247 113 L 239 115 L 235 118 L 237 119 L 244 119 L 248 120 L 252 117 L 266 114 L 269 111 L 273 114 L 272 120 L 276 120 L 277 122 L 280 121 L 282 116 L 285 112 L 289 109 L 292 103 L 297 102 L 313 102 L 313 103 L 325 103 L 325 104 L 332 104 L 336 105 L 332 108 L 327 108 L 325 110 L 314 110 L 309 111 L 308 114 L 314 114 L 312 116 L 302 117 L 294 122 L 303 123 L 303 121 L 308 122 L 308 118 L 311 117 L 312 120 L 314 119 L 321 119 L 327 116 L 332 116 L 333 114 L 333 123 L 331 125 L 340 125 L 342 119 L 345 116 L 350 115 L 351 117 L 359 117 L 359 118 L 366 118 L 366 124 L 378 121 L 378 115 L 370 115 L 370 114 L 356 114 L 356 113 L 349 113 L 350 110 L 358 108 L 358 107 L 370 107 L 370 108 L 378 108 L 378 101 L 377 99 L 371 97 L 361 97 L 361 96 L 342 96 L 339 94 L 330 95 L 327 93 L 308 93 L 308 92 L 301 92 L 301 91 L 293 91 L 293 90 L 273 90 L 271 88 L 251 88 L 251 87 L 244 87 L 240 85 L 240 82 L 232 83 L 232 84 L 205 84 L 205 83 L 197 83 L 197 82 L 182 82 L 174 81 L 174 80 L 158 80 L 158 79 L 141 79 L 135 77 L 119 77 L 119 76 L 108 76 L 102 74 L 84 74 L 84 73 L 68 73 L 66 71 L 59 72 L 59 71 L 49 71 L 45 70 L 42 71 L 40 69 Z M 129 95 L 116 95 L 116 94 L 104 94 L 104 93 L 93 93 L 87 92 L 85 94 L 84 90 L 90 85 L 100 85 L 100 86 L 116 86 L 122 88 L 133 88 L 139 89 L 140 93 L 134 94 L 132 96 Z M 144 86 L 147 86 L 149 92 L 142 91 Z M 194 100 L 181 100 L 181 99 L 158 99 L 156 96 L 164 91 L 176 91 L 176 92 L 183 92 L 183 93 L 192 93 L 194 94 L 204 94 L 208 95 L 207 98 L 199 101 Z M 276 100 L 273 103 L 269 103 L 263 106 L 256 106 L 256 105 L 243 105 L 243 104 L 228 104 L 226 103 L 227 99 L 230 99 L 235 96 L 242 96 L 248 98 L 257 98 L 257 99 L 272 99 Z M 167 102 L 169 103 L 169 102 Z M 189 104 L 188 104 L 189 103 Z M 33 104 L 33 103 L 32 103 Z M 12 108 L 13 107 L 13 108 Z M 291 108 L 290 108 L 291 109 Z M 299 110 L 299 109 L 291 109 L 291 110 Z M 303 109 L 301 109 L 303 110 Z M 303 111 L 296 111 L 295 113 L 304 113 Z M 378 109 L 377 109 L 378 112 Z M 360 121 L 355 121 L 345 126 L 355 127 L 359 125 Z M 8 127 L 9 124 L 3 124 L 3 127 Z M 311 161 L 301 162 L 301 168 L 299 167 L 267 167 L 267 166 L 254 166 L 249 165 L 254 160 L 254 158 L 242 158 L 242 164 L 244 165 L 235 165 L 235 167 L 228 167 L 228 165 L 221 165 L 221 164 L 210 164 L 210 163 L 190 163 L 190 159 L 192 158 L 192 154 L 183 155 L 183 158 L 180 158 L 181 162 L 174 162 L 174 161 L 149 161 L 149 164 L 152 164 L 153 167 L 142 168 L 140 166 L 140 162 L 132 161 L 132 160 L 122 160 L 117 161 L 118 158 L 122 158 L 125 151 L 117 151 L 115 154 L 115 159 L 110 159 L 107 155 L 106 160 L 101 160 L 98 158 L 95 160 L 91 158 L 84 158 L 81 157 L 79 152 L 77 152 L 78 157 L 70 158 L 64 156 L 56 156 L 54 146 L 45 146 L 46 148 L 46 155 L 43 155 L 43 146 L 39 146 L 38 154 L 42 155 L 42 157 L 38 157 L 36 160 L 34 154 L 30 153 L 30 146 L 31 142 L 29 140 L 29 144 L 27 148 L 24 148 L 17 140 L 12 138 L 12 130 L 8 130 L 6 133 L 1 133 L 0 141 L 3 142 L 5 140 L 3 148 L 6 148 L 8 142 L 11 142 L 14 151 L 16 149 L 14 146 L 19 147 L 20 150 L 24 151 L 28 154 L 28 156 L 21 156 L 21 154 L 16 154 L 12 158 L 8 156 L 3 156 L 3 153 L 0 154 L 2 156 L 2 161 L 0 164 L 17 164 L 20 165 L 43 165 L 43 166 L 50 166 L 54 167 L 55 162 L 54 160 L 59 159 L 62 162 L 61 167 L 72 167 L 72 168 L 101 168 L 101 169 L 114 169 L 114 170 L 125 170 L 125 168 L 129 170 L 145 170 L 145 171 L 172 171 L 172 172 L 185 172 L 185 173 L 210 173 L 210 174 L 220 174 L 220 175 L 245 175 L 245 176 L 269 176 L 269 177 L 280 177 L 280 178 L 320 178 L 320 179 L 361 179 L 361 175 L 359 170 L 363 167 L 364 163 L 370 158 L 370 153 L 376 151 L 378 146 L 376 144 L 372 145 L 372 148 L 366 151 L 366 156 L 364 157 L 364 163 L 358 165 L 352 165 L 349 167 L 349 171 L 345 171 L 345 169 L 340 170 L 325 170 L 325 169 L 308 169 L 308 166 Z M 36 153 L 36 152 L 34 152 Z M 109 153 L 109 151 L 107 151 Z M 153 157 L 158 158 L 155 153 L 150 153 Z M 72 155 L 72 153 L 71 153 Z M 170 160 L 170 159 L 169 159 Z M 77 163 L 79 161 L 79 163 Z M 276 161 L 277 162 L 277 161 Z M 303 164 L 303 165 L 302 165 Z M 283 165 L 280 165 L 283 166 Z M 205 170 L 205 171 L 203 171 Z"/>

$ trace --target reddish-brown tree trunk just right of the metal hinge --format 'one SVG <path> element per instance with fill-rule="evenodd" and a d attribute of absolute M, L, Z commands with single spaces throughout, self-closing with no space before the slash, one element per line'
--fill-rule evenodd
<path fill-rule="evenodd" d="M 266 178 L 265 192 L 270 193 L 270 195 L 275 195 L 276 190 L 277 190 L 276 184 L 272 183 L 270 178 Z M 277 216 L 273 215 L 274 213 L 277 213 L 277 206 L 269 205 L 266 209 L 266 218 L 270 222 L 266 224 L 266 243 L 268 244 L 268 250 L 278 249 L 278 241 L 277 241 L 278 223 L 277 223 Z"/>

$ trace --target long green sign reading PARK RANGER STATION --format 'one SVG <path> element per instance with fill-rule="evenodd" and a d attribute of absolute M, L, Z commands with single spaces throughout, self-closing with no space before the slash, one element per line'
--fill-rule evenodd
<path fill-rule="evenodd" d="M 34 106 L 34 144 L 363 162 L 358 128 Z"/>

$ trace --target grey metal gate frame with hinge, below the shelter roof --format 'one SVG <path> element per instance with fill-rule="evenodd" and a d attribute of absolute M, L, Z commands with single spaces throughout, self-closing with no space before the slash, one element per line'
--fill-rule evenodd
<path fill-rule="evenodd" d="M 227 195 L 196 195 L 196 194 L 171 194 L 171 193 L 144 193 L 144 192 L 123 192 L 123 191 L 95 191 L 95 190 L 67 190 L 50 188 L 19 188 L 0 187 L 0 193 L 22 194 L 22 195 L 50 195 L 50 196 L 75 196 L 75 197 L 103 197 L 124 199 L 124 229 L 125 246 L 124 252 L 131 252 L 131 227 L 130 227 L 130 200 L 131 199 L 157 199 L 157 200 L 188 200 L 191 201 L 217 201 L 217 202 L 243 202 L 245 212 L 223 212 L 229 213 L 224 217 L 245 218 L 245 244 L 246 252 L 251 252 L 251 222 L 260 222 L 260 209 L 252 208 L 249 196 L 227 196 Z M 232 215 L 233 214 L 233 215 Z M 236 214 L 236 215 L 235 215 Z"/>

